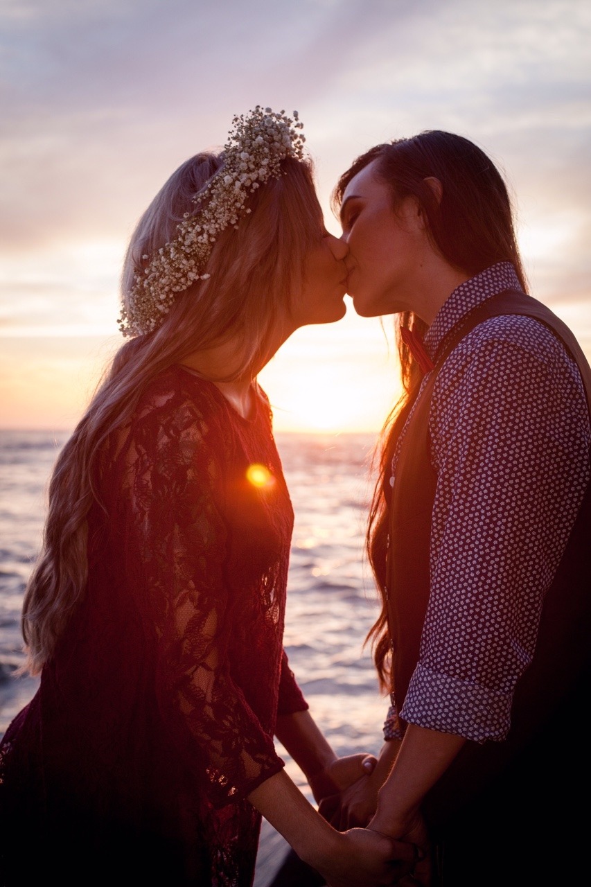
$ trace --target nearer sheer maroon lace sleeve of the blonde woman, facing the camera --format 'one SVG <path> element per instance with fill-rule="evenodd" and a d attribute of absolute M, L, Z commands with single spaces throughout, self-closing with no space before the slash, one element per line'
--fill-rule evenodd
<path fill-rule="evenodd" d="M 283 766 L 232 680 L 228 647 L 223 467 L 209 429 L 177 410 L 133 435 L 126 457 L 128 534 L 142 565 L 138 596 L 156 632 L 156 693 L 179 754 L 213 805 L 245 797 Z"/>

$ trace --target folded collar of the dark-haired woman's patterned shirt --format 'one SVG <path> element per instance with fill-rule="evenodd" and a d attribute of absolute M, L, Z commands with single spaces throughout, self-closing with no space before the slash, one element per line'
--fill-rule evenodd
<path fill-rule="evenodd" d="M 485 302 L 492 295 L 502 293 L 506 289 L 522 287 L 516 270 L 510 262 L 498 262 L 480 271 L 475 277 L 465 280 L 453 290 L 425 334 L 425 349 L 429 357 L 434 359 L 437 349 L 445 334 L 455 326 L 470 310 Z"/>

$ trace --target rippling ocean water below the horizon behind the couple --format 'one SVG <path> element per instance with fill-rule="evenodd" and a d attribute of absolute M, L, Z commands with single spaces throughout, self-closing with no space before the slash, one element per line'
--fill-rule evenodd
<path fill-rule="evenodd" d="M 0 431 L 0 734 L 35 690 L 14 681 L 20 608 L 41 543 L 47 485 L 67 432 Z M 364 554 L 374 435 L 278 433 L 296 524 L 285 647 L 311 714 L 336 753 L 377 754 L 387 701 L 364 648 L 378 613 Z M 289 775 L 309 799 L 297 766 L 278 745 Z M 287 845 L 264 821 L 256 887 L 266 887 Z"/>

